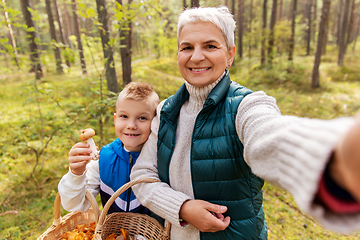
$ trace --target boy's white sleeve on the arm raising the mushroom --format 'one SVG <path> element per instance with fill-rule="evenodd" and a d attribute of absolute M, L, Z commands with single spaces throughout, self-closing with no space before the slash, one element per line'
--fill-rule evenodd
<path fill-rule="evenodd" d="M 85 199 L 86 189 L 96 197 L 100 192 L 99 162 L 90 161 L 86 165 L 85 172 L 75 175 L 70 170 L 65 174 L 58 185 L 61 196 L 61 204 L 66 211 L 86 211 L 90 207 Z"/>

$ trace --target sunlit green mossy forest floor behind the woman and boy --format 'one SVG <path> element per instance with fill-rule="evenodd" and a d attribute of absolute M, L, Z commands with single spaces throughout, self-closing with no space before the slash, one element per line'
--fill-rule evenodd
<path fill-rule="evenodd" d="M 333 55 L 324 56 L 318 89 L 310 87 L 312 57 L 298 57 L 293 65 L 280 59 L 263 69 L 258 60 L 237 59 L 231 77 L 274 96 L 283 114 L 322 119 L 350 116 L 360 108 L 360 58 L 349 55 L 346 67 L 340 68 Z M 64 75 L 47 72 L 43 80 L 35 81 L 25 71 L 0 69 L 0 240 L 36 239 L 52 224 L 57 183 L 68 171 L 67 154 L 79 141 L 79 129 L 93 127 L 100 147 L 115 138 L 115 100 L 100 99 L 97 75 L 92 70 L 82 76 L 74 69 Z M 176 58 L 136 61 L 132 77 L 153 84 L 161 100 L 183 83 Z M 54 129 L 58 130 L 52 136 Z M 264 207 L 269 239 L 360 237 L 324 230 L 297 208 L 288 192 L 269 183 L 264 187 Z"/>

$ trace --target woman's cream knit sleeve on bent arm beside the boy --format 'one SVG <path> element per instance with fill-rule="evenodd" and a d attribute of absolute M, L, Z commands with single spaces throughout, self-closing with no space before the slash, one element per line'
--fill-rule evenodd
<path fill-rule="evenodd" d="M 131 180 L 138 178 L 160 180 L 157 169 L 157 133 L 161 107 L 162 103 L 159 104 L 157 115 L 152 121 L 149 139 L 144 144 L 140 156 L 131 170 Z M 180 207 L 190 199 L 189 196 L 173 190 L 164 182 L 137 184 L 132 189 L 142 205 L 172 224 L 180 226 Z"/>

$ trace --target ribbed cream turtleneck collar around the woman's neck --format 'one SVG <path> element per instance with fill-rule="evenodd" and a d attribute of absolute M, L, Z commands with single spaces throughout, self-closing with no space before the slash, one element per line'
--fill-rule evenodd
<path fill-rule="evenodd" d="M 195 87 L 185 81 L 186 89 L 190 95 L 188 102 L 184 104 L 186 110 L 188 112 L 199 112 L 204 107 L 205 100 L 208 98 L 211 91 L 227 74 L 228 71 L 225 70 L 224 73 L 215 82 L 206 85 L 205 87 Z"/>

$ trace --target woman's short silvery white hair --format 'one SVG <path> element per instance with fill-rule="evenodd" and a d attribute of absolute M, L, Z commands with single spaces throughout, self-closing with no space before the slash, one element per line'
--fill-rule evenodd
<path fill-rule="evenodd" d="M 220 7 L 197 7 L 184 10 L 180 16 L 177 26 L 177 43 L 181 30 L 188 23 L 211 22 L 217 26 L 224 38 L 228 50 L 235 46 L 234 32 L 236 28 L 235 20 L 226 6 Z"/>

